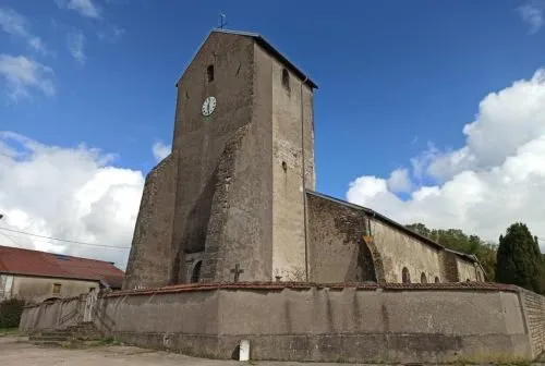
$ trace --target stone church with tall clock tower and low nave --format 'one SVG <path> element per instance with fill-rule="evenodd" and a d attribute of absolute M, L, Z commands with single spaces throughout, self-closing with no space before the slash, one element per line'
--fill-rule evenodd
<path fill-rule="evenodd" d="M 123 289 L 193 282 L 484 281 L 472 255 L 315 191 L 318 86 L 258 34 L 214 29 L 175 84 Z"/>

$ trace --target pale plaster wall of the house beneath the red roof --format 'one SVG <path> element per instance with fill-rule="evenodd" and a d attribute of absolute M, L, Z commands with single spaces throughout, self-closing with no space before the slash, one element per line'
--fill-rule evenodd
<path fill-rule="evenodd" d="M 53 284 L 60 284 L 60 293 L 53 293 Z M 40 303 L 50 297 L 72 297 L 89 292 L 90 289 L 98 291 L 97 281 L 69 280 L 14 276 L 11 290 L 12 297 L 25 298 L 27 301 Z"/>

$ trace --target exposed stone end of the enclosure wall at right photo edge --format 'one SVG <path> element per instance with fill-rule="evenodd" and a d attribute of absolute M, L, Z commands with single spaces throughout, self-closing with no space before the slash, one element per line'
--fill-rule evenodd
<path fill-rule="evenodd" d="M 521 297 L 533 352 L 542 354 L 545 351 L 545 297 L 526 290 L 521 292 Z"/>

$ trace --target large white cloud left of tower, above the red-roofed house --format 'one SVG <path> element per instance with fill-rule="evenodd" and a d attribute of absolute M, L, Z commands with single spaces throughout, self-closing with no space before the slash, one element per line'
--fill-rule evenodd
<path fill-rule="evenodd" d="M 46 236 L 130 247 L 144 185 L 141 171 L 88 148 L 46 146 L 0 132 L 0 227 Z M 70 168 L 70 169 L 68 169 Z M 66 244 L 1 231 L 0 244 L 114 261 L 129 249 Z M 8 235 L 8 237 L 5 236 Z"/>

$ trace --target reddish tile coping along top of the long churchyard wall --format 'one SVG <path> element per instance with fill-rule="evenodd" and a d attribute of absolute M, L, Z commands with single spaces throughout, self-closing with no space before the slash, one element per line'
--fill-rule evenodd
<path fill-rule="evenodd" d="M 125 290 L 117 291 L 108 294 L 108 296 L 123 295 L 148 295 L 159 293 L 179 293 L 190 291 L 211 291 L 211 290 L 251 290 L 251 291 L 281 291 L 283 289 L 358 289 L 361 291 L 376 291 L 383 289 L 386 291 L 508 291 L 517 292 L 520 289 L 510 284 L 494 283 L 494 282 L 451 282 L 451 283 L 371 283 L 371 282 L 353 282 L 353 283 L 312 283 L 312 282 L 205 282 L 205 283 L 186 283 L 174 284 L 164 288 L 153 288 L 143 290 Z"/>

